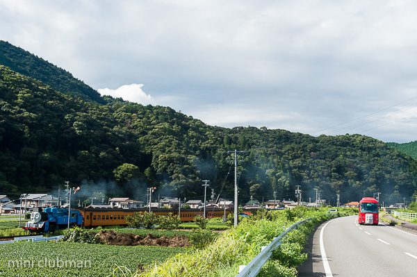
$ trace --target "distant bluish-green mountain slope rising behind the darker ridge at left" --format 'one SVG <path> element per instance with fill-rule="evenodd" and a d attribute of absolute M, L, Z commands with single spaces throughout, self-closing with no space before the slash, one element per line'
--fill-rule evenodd
<path fill-rule="evenodd" d="M 70 72 L 3 40 L 0 40 L 0 65 L 6 65 L 15 72 L 39 80 L 58 92 L 104 103 L 99 92 L 74 78 Z"/>

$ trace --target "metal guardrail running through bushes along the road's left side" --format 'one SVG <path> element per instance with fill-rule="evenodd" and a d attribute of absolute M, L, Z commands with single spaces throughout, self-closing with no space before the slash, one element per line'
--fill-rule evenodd
<path fill-rule="evenodd" d="M 238 275 L 236 275 L 236 277 L 256 276 L 261 270 L 261 268 L 263 267 L 263 265 L 265 265 L 265 262 L 267 262 L 270 256 L 272 255 L 272 251 L 274 251 L 275 249 L 277 249 L 279 245 L 281 245 L 282 237 L 284 237 L 286 234 L 288 234 L 289 232 L 291 232 L 292 230 L 294 230 L 295 228 L 297 228 L 298 226 L 300 226 L 301 224 L 304 224 L 304 222 L 309 221 L 309 220 L 310 219 L 304 219 L 302 221 L 298 221 L 297 223 L 288 227 L 284 231 L 284 233 L 281 233 L 281 235 L 279 235 L 278 237 L 275 237 L 275 239 L 272 240 L 272 242 L 268 246 L 264 246 L 262 248 L 261 253 L 256 255 L 256 257 L 253 258 L 253 260 L 250 261 L 248 265 L 240 266 L 239 269 L 241 269 L 241 267 L 243 267 L 243 269 L 239 272 Z"/>

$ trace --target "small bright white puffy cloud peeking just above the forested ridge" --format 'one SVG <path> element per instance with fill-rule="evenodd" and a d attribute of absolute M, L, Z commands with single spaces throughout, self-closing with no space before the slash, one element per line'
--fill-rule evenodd
<path fill-rule="evenodd" d="M 112 90 L 111 88 L 101 88 L 97 91 L 101 95 L 110 95 L 113 97 L 120 97 L 123 100 L 140 103 L 142 105 L 155 105 L 155 101 L 149 94 L 146 94 L 142 90 L 143 84 L 131 84 L 131 85 L 122 85 L 117 87 L 117 89 Z"/>

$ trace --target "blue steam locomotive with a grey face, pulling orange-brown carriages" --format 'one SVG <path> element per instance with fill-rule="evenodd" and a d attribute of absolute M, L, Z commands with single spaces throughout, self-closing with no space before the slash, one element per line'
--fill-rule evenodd
<path fill-rule="evenodd" d="M 71 226 L 83 225 L 83 216 L 78 210 L 71 210 Z M 54 233 L 57 229 L 68 226 L 67 208 L 45 208 L 44 211 L 31 212 L 31 220 L 27 221 L 24 230 L 29 233 Z"/>

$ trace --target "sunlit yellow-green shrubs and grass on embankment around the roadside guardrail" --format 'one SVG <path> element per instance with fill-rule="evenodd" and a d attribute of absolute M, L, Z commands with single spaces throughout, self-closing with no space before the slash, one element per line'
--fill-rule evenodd
<path fill-rule="evenodd" d="M 300 207 L 290 212 L 259 212 L 252 219 L 243 219 L 237 228 L 224 231 L 204 249 L 175 255 L 161 265 L 136 272 L 134 276 L 236 276 L 238 266 L 247 265 L 261 251 L 261 246 L 268 245 L 274 237 L 296 221 L 311 217 L 311 223 L 301 227 L 293 233 L 294 235 L 289 235 L 281 249 L 276 251 L 275 255 L 281 257 L 281 260 L 274 260 L 275 262 L 268 264 L 269 271 L 274 269 L 277 276 L 295 276 L 295 266 L 305 260 L 305 255 L 300 253 L 306 237 L 314 226 L 334 216 L 337 215 L 327 213 L 327 208 Z"/>

